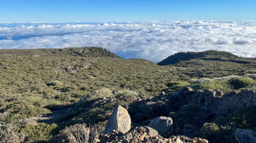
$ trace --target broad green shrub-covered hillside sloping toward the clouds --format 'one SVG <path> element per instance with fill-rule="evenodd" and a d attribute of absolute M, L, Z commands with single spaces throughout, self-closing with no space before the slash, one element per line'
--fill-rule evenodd
<path fill-rule="evenodd" d="M 50 142 L 78 123 L 100 131 L 118 104 L 128 109 L 133 127 L 146 125 L 169 115 L 162 91 L 187 85 L 224 93 L 256 89 L 254 59 L 217 51 L 189 55 L 194 58 L 159 66 L 101 47 L 0 50 L 1 139 Z M 187 111 L 177 110 L 183 120 L 180 112 Z"/>

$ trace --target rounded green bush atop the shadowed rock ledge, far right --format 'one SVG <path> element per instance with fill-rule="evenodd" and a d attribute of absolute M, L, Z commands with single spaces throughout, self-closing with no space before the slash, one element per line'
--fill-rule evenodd
<path fill-rule="evenodd" d="M 240 88 L 250 88 L 255 84 L 255 80 L 249 77 L 234 77 L 229 80 L 230 85 L 233 89 L 237 90 Z"/>

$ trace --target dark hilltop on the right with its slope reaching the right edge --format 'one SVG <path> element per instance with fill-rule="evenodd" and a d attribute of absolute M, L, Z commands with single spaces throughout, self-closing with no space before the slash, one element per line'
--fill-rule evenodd
<path fill-rule="evenodd" d="M 217 51 L 217 50 L 206 50 L 204 52 L 181 52 L 176 53 L 174 55 L 170 55 L 164 60 L 157 63 L 159 66 L 165 66 L 169 64 L 179 63 L 181 61 L 189 61 L 193 59 L 203 59 L 208 61 L 233 61 L 237 63 L 249 63 L 255 62 L 253 58 L 241 58 L 237 55 L 233 55 L 233 53 L 225 52 L 225 51 Z"/>

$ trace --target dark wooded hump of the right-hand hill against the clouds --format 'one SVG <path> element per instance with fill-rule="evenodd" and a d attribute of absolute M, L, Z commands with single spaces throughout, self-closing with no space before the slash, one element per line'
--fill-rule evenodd
<path fill-rule="evenodd" d="M 165 66 L 168 64 L 175 64 L 180 61 L 189 61 L 194 58 L 239 58 L 237 55 L 233 53 L 225 52 L 225 51 L 217 51 L 217 50 L 206 50 L 204 52 L 180 52 L 174 55 L 170 55 L 169 57 L 165 58 L 164 60 L 157 63 L 159 66 Z"/>

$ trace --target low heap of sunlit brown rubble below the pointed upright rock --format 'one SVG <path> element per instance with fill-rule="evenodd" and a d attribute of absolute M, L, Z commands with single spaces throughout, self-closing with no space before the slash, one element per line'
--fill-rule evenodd
<path fill-rule="evenodd" d="M 153 128 L 141 126 L 129 131 L 127 134 L 122 134 L 118 131 L 113 131 L 109 134 L 100 134 L 94 142 L 151 142 L 151 143 L 208 143 L 206 139 L 193 138 L 187 136 L 170 136 L 170 138 L 163 138 Z"/>

